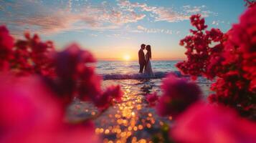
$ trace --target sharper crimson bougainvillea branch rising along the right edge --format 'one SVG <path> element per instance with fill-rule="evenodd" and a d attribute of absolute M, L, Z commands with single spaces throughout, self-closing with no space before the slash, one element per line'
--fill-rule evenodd
<path fill-rule="evenodd" d="M 250 6 L 227 34 L 219 29 L 207 31 L 200 15 L 191 16 L 191 25 L 196 30 L 181 40 L 187 60 L 176 66 L 192 77 L 216 79 L 210 102 L 226 104 L 241 114 L 255 114 L 256 6 Z"/>

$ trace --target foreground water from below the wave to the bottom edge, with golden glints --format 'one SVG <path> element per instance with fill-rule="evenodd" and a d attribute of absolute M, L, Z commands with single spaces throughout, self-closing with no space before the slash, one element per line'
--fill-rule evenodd
<path fill-rule="evenodd" d="M 158 117 L 155 109 L 148 107 L 145 99 L 148 93 L 161 94 L 161 79 L 106 80 L 103 81 L 103 88 L 111 84 L 120 84 L 122 87 L 124 95 L 121 102 L 97 117 L 99 112 L 93 104 L 75 99 L 67 111 L 67 119 L 77 122 L 96 116 L 93 120 L 95 133 L 102 137 L 105 143 L 151 142 L 152 137 L 159 135 L 161 128 L 166 129 L 166 124 L 172 124 L 172 117 Z M 207 84 L 199 86 L 205 89 Z"/>

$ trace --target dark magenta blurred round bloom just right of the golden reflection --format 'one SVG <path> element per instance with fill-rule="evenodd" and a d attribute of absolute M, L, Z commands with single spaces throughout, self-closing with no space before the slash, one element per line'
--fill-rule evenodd
<path fill-rule="evenodd" d="M 172 74 L 163 79 L 161 86 L 163 95 L 159 98 L 156 111 L 160 116 L 176 116 L 183 112 L 190 104 L 201 97 L 199 87 L 186 79 L 179 79 Z"/>

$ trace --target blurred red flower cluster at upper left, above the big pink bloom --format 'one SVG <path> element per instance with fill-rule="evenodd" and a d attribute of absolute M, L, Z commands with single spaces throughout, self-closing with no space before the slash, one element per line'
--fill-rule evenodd
<path fill-rule="evenodd" d="M 13 49 L 11 68 L 19 76 L 40 74 L 53 77 L 54 67 L 50 55 L 54 51 L 52 41 L 42 42 L 35 34 L 32 38 L 26 33 L 25 40 L 16 41 Z"/>

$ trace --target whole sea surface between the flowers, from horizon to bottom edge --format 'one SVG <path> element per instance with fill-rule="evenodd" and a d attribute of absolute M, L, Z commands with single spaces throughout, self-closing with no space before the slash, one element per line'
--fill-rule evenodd
<path fill-rule="evenodd" d="M 102 88 L 119 84 L 124 95 L 122 101 L 100 113 L 88 102 L 75 99 L 67 110 L 67 119 L 80 121 L 93 118 L 95 133 L 103 142 L 149 142 L 160 132 L 164 123 L 172 124 L 172 117 L 159 117 L 153 107 L 148 106 L 146 95 L 157 92 L 161 95 L 161 80 L 168 73 L 184 77 L 176 69 L 179 61 L 152 61 L 156 77 L 143 78 L 138 74 L 138 61 L 98 61 L 96 71 L 103 77 Z M 210 81 L 199 77 L 196 84 L 201 87 L 204 99 L 210 93 Z"/>

